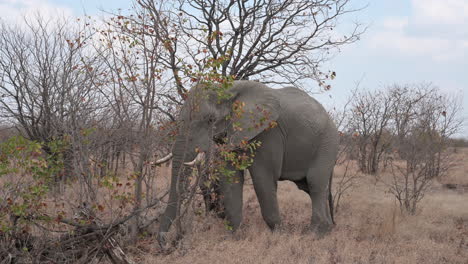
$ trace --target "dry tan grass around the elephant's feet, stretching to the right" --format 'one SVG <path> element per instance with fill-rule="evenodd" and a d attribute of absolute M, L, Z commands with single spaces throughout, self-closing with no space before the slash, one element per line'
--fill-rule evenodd
<path fill-rule="evenodd" d="M 468 182 L 468 150 L 445 182 Z M 342 168 L 336 169 L 337 177 Z M 384 176 L 383 176 L 384 177 Z M 416 216 L 406 216 L 383 184 L 363 176 L 344 199 L 337 226 L 323 239 L 307 231 L 309 197 L 279 184 L 283 227 L 270 232 L 253 188 L 244 193 L 242 228 L 234 235 L 222 221 L 193 216 L 177 250 L 163 254 L 153 237 L 132 249 L 142 263 L 468 263 L 468 193 L 435 183 Z"/>

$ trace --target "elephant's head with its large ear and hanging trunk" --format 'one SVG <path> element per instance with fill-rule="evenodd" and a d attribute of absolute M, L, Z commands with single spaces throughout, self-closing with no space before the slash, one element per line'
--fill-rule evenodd
<path fill-rule="evenodd" d="M 213 85 L 193 87 L 179 115 L 179 132 L 172 149 L 169 203 L 160 233 L 167 232 L 179 206 L 180 173 L 200 160 L 215 142 L 238 145 L 249 141 L 279 116 L 279 100 L 265 85 L 236 81 L 225 91 Z M 185 165 L 184 165 L 185 163 Z"/>

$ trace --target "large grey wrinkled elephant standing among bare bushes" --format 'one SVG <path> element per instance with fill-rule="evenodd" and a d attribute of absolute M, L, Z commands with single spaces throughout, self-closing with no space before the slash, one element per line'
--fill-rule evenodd
<path fill-rule="evenodd" d="M 275 229 L 280 225 L 277 182 L 289 180 L 312 199 L 312 230 L 323 235 L 333 226 L 329 186 L 338 151 L 338 132 L 328 113 L 315 99 L 293 88 L 271 89 L 253 81 L 236 81 L 229 88 L 232 97 L 219 102 L 213 92 L 198 85 L 191 89 L 181 109 L 180 130 L 172 149 L 172 182 L 169 203 L 161 218 L 159 241 L 164 244 L 165 233 L 174 221 L 179 206 L 179 190 L 183 162 L 192 161 L 198 148 L 208 151 L 219 137 L 227 136 L 233 143 L 241 140 L 261 141 L 249 171 L 260 203 L 263 219 Z M 259 115 L 258 107 L 269 112 L 277 126 L 265 130 L 234 131 L 226 120 L 235 101 L 245 103 L 245 113 Z M 198 106 L 198 107 L 194 107 Z M 252 127 L 252 114 L 240 120 L 243 128 Z M 189 132 L 188 132 L 189 131 Z M 234 182 L 221 177 L 225 215 L 233 230 L 242 220 L 243 171 L 236 171 Z"/>

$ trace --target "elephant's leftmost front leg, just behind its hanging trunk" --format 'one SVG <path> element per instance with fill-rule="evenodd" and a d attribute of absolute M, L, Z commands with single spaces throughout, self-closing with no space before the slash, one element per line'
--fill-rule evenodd
<path fill-rule="evenodd" d="M 242 221 L 244 171 L 235 171 L 232 176 L 221 176 L 220 183 L 224 213 L 233 231 L 235 231 Z"/>

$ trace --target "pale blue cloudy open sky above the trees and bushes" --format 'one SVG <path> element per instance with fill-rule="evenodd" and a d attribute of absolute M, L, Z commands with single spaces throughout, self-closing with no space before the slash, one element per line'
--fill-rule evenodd
<path fill-rule="evenodd" d="M 314 95 L 328 108 L 342 105 L 359 82 L 361 88 L 432 83 L 462 100 L 468 120 L 468 0 L 351 0 L 365 7 L 341 19 L 367 26 L 361 40 L 345 46 L 325 66 L 336 72 L 332 90 Z M 128 10 L 131 0 L 0 0 L 0 17 L 14 21 L 40 11 L 102 16 L 102 10 Z M 468 138 L 468 122 L 458 136 Z"/>

